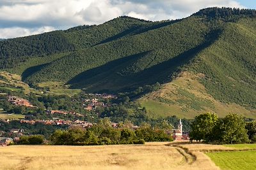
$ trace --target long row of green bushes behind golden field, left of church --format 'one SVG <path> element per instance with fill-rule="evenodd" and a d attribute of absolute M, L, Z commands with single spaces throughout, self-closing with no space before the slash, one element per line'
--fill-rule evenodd
<path fill-rule="evenodd" d="M 122 127 L 122 125 L 116 129 L 111 127 L 111 122 L 105 120 L 87 130 L 55 131 L 51 135 L 50 141 L 53 145 L 118 145 L 173 140 L 171 134 L 167 134 L 164 129 L 152 129 L 148 125 L 136 130 L 132 127 Z"/>

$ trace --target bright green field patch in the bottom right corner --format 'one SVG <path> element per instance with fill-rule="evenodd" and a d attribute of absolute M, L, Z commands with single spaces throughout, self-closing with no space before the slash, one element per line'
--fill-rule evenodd
<path fill-rule="evenodd" d="M 207 153 L 214 161 L 216 166 L 225 170 L 255 169 L 256 152 L 255 151 L 237 151 L 237 152 L 215 152 Z"/>

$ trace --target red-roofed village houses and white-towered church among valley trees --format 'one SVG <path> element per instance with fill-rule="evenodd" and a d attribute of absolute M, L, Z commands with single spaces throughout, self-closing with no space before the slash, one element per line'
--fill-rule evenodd
<path fill-rule="evenodd" d="M 105 99 L 116 99 L 117 97 L 112 94 L 87 94 L 81 99 L 81 104 L 83 105 L 84 110 L 86 111 L 95 111 L 97 107 L 109 107 L 111 103 L 104 103 Z M 22 97 L 17 96 L 7 96 L 8 102 L 12 103 L 15 106 L 24 106 L 26 108 L 36 108 L 30 101 L 27 99 L 23 99 Z M 35 124 L 43 124 L 43 125 L 52 125 L 65 127 L 66 129 L 88 129 L 93 125 L 97 125 L 96 123 L 92 123 L 85 120 L 80 120 L 84 115 L 81 113 L 77 113 L 76 111 L 64 111 L 64 110 L 45 110 L 45 113 L 49 115 L 49 118 L 38 119 L 34 115 L 27 114 L 24 118 L 19 120 L 19 123 L 35 125 Z M 76 120 L 68 120 L 67 116 L 74 116 Z M 61 117 L 61 118 L 59 118 Z M 2 119 L 1 122 L 9 124 L 12 120 L 10 119 Z M 1 125 L 1 124 L 0 124 Z M 116 122 L 111 122 L 111 127 L 120 128 L 120 124 Z M 131 125 L 129 127 L 133 130 L 140 128 L 138 125 Z M 177 129 L 170 129 L 166 131 L 168 134 L 172 135 L 172 138 L 175 140 L 188 140 L 188 133 L 184 133 L 182 129 L 182 122 L 180 120 Z M 18 141 L 20 136 L 28 135 L 29 133 L 26 130 L 20 129 L 10 129 L 8 132 L 0 131 L 0 145 L 6 146 L 8 143 L 12 141 Z M 11 138 L 12 137 L 12 138 Z"/>

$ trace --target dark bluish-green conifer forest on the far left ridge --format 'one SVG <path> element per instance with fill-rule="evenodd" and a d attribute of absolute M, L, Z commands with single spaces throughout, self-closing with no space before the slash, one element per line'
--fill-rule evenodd
<path fill-rule="evenodd" d="M 29 56 L 50 55 L 74 50 L 63 31 L 0 41 L 0 68 L 15 67 Z"/>

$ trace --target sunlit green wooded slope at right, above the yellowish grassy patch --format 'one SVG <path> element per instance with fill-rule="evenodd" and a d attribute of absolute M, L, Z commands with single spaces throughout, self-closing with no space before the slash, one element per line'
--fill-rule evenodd
<path fill-rule="evenodd" d="M 256 22 L 228 23 L 218 41 L 196 57 L 189 69 L 204 73 L 202 83 L 223 103 L 256 108 Z"/>

